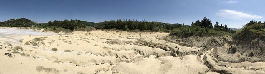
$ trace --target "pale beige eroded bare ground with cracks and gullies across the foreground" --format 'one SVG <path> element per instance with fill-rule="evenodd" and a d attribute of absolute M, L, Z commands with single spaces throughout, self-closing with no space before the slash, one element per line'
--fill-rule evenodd
<path fill-rule="evenodd" d="M 0 74 L 218 74 L 211 72 L 215 68 L 233 73 L 229 71 L 233 68 L 218 66 L 222 64 L 240 71 L 235 73 L 263 73 L 243 70 L 232 63 L 216 65 L 216 60 L 210 58 L 213 49 L 205 53 L 203 47 L 180 46 L 167 41 L 168 36 L 160 32 L 99 30 L 56 35 L 1 34 L 0 58 L 4 61 L 0 61 Z M 263 69 L 257 65 L 261 63 L 251 65 Z"/>

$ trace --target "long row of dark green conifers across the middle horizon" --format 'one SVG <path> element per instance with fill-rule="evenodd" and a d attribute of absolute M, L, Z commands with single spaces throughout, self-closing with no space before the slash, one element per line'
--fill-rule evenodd
<path fill-rule="evenodd" d="M 100 27 L 98 25 L 101 25 Z M 110 20 L 105 21 L 102 24 L 96 24 L 95 28 L 101 29 L 119 29 L 119 30 L 150 30 L 150 31 L 169 31 L 173 30 L 174 28 L 182 27 L 181 24 L 168 24 L 168 23 L 161 23 L 161 22 L 148 22 L 148 21 L 138 21 L 138 20 Z"/>

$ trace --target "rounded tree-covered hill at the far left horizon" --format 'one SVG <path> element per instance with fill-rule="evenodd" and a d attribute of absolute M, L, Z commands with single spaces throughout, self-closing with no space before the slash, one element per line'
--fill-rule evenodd
<path fill-rule="evenodd" d="M 3 27 L 32 27 L 36 26 L 37 24 L 38 23 L 26 18 L 10 19 L 8 21 L 0 22 L 0 26 Z"/>

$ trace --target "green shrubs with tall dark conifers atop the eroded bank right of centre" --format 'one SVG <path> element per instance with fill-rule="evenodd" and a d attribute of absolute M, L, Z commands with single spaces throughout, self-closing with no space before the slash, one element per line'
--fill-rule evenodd
<path fill-rule="evenodd" d="M 227 27 L 227 25 L 219 25 L 218 22 L 212 26 L 212 23 L 209 19 L 204 17 L 201 21 L 192 22 L 191 26 L 182 26 L 179 28 L 175 28 L 170 32 L 170 35 L 175 35 L 179 37 L 190 37 L 190 36 L 223 36 L 223 35 L 232 35 L 235 33 Z"/>

